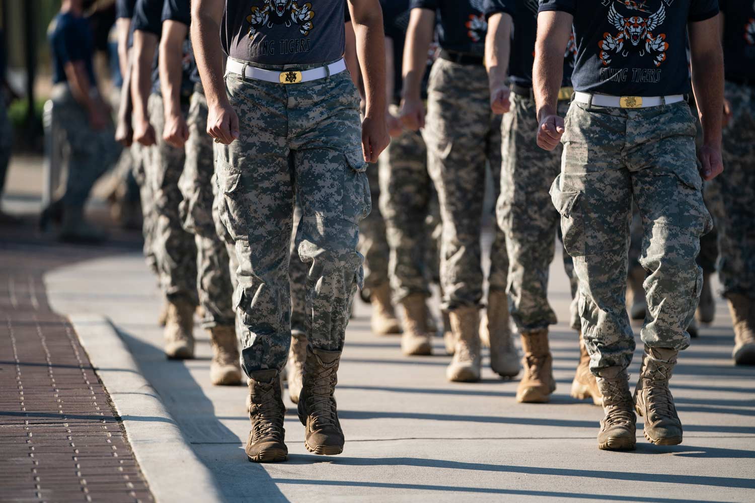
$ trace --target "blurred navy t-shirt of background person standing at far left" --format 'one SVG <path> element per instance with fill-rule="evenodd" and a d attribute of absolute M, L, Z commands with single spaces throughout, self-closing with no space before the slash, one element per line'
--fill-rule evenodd
<path fill-rule="evenodd" d="M 97 85 L 92 64 L 94 37 L 87 20 L 70 12 L 61 12 L 50 24 L 48 39 L 52 49 L 53 84 L 68 81 L 66 63 L 80 61 L 84 63 L 91 87 Z"/>

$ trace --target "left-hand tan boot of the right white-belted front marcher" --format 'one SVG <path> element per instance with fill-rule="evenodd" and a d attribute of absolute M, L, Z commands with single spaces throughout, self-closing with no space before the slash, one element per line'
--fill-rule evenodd
<path fill-rule="evenodd" d="M 635 448 L 636 422 L 629 376 L 621 367 L 608 367 L 599 372 L 598 388 L 603 397 L 603 413 L 598 433 L 598 449 L 609 451 Z"/>

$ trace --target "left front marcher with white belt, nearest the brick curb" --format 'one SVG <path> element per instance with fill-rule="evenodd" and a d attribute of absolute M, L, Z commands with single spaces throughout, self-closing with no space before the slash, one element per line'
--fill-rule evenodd
<path fill-rule="evenodd" d="M 299 419 L 310 452 L 344 449 L 333 394 L 363 276 L 356 244 L 370 210 L 365 170 L 388 143 L 384 38 L 377 0 L 350 0 L 359 60 L 366 62 L 360 131 L 359 94 L 344 71 L 346 2 L 252 3 L 196 0 L 191 30 L 207 130 L 222 144 L 220 218 L 239 261 L 234 303 L 251 395 L 245 450 L 251 461 L 278 462 L 288 457 L 278 380 L 291 342 L 288 263 L 296 198 L 302 208 L 297 249 L 309 267 Z"/>

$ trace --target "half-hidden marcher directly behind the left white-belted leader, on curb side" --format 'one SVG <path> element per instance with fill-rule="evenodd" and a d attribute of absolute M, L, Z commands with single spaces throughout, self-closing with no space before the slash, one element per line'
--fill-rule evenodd
<path fill-rule="evenodd" d="M 204 314 L 202 327 L 208 331 L 212 345 L 210 380 L 214 385 L 239 385 L 241 366 L 228 253 L 217 235 L 212 214 L 214 163 L 213 141 L 205 132 L 207 100 L 191 49 L 185 47 L 189 44 L 191 23 L 189 2 L 165 0 L 162 9 L 159 47 L 160 87 L 165 107 L 162 138 L 168 145 L 186 152 L 183 173 L 178 179 L 183 196 L 179 211 L 184 230 L 194 236 L 196 243 L 196 284 Z M 186 71 L 193 94 L 188 115 L 183 115 L 181 90 L 186 86 Z"/>

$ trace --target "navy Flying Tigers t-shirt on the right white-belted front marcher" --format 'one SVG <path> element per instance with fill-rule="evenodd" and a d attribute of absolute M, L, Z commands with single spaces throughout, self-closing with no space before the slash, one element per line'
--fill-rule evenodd
<path fill-rule="evenodd" d="M 687 23 L 718 14 L 717 0 L 540 0 L 574 17 L 575 90 L 612 96 L 686 94 Z"/>

